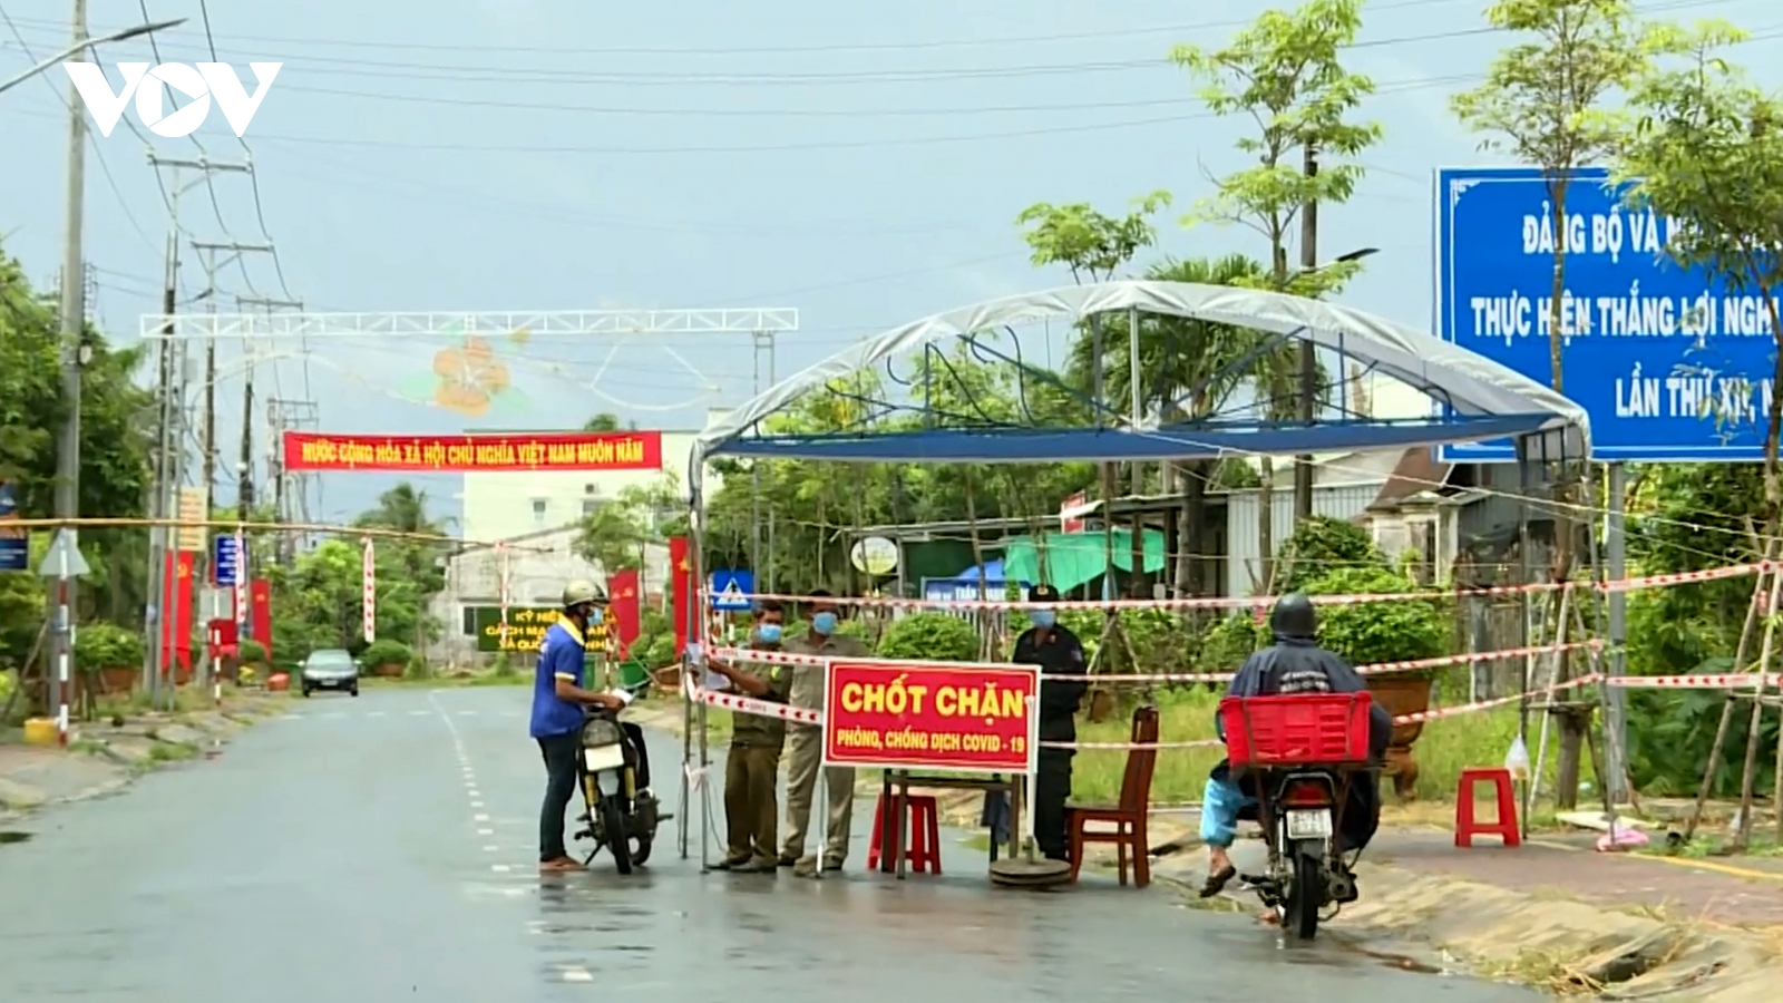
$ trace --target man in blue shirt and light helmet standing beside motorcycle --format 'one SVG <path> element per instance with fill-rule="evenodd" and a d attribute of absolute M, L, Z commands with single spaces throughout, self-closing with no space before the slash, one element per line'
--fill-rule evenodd
<path fill-rule="evenodd" d="M 583 632 L 601 623 L 606 596 L 592 582 L 576 580 L 563 587 L 563 616 L 546 630 L 538 644 L 533 675 L 533 739 L 546 758 L 546 803 L 538 812 L 538 869 L 579 871 L 563 848 L 563 812 L 576 794 L 578 746 L 587 707 L 619 710 L 624 700 L 610 692 L 581 689 L 587 659 Z"/>

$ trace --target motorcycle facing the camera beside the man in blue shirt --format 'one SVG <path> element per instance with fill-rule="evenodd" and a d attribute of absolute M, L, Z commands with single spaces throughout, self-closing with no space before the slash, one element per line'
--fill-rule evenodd
<path fill-rule="evenodd" d="M 674 816 L 661 814 L 656 794 L 638 785 L 640 751 L 612 710 L 588 716 L 581 726 L 581 800 L 587 828 L 576 839 L 592 839 L 583 866 L 606 850 L 613 867 L 629 875 L 651 857 L 656 826 Z"/>

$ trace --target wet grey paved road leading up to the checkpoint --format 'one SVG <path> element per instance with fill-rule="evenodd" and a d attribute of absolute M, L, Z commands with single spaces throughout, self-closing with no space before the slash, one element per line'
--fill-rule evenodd
<path fill-rule="evenodd" d="M 32 819 L 0 844 L 0 998 L 1533 999 L 1334 942 L 1280 948 L 1164 889 L 993 891 L 965 848 L 945 878 L 902 883 L 859 873 L 863 846 L 843 880 L 703 876 L 665 832 L 647 875 L 540 878 L 524 701 L 292 701 L 214 762 Z M 670 789 L 676 751 L 653 737 Z"/>

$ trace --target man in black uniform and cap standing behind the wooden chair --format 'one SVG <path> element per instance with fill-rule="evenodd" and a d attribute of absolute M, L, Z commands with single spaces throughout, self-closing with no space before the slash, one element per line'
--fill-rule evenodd
<path fill-rule="evenodd" d="M 1059 601 L 1052 585 L 1034 585 L 1029 594 L 1034 603 Z M 1045 676 L 1080 676 L 1088 669 L 1084 644 L 1066 626 L 1059 626 L 1050 609 L 1027 614 L 1034 625 L 1015 641 L 1015 660 L 1039 666 L 1039 764 L 1034 773 L 1034 842 L 1052 860 L 1070 858 L 1064 833 L 1064 801 L 1072 796 L 1072 757 L 1077 750 L 1047 748 L 1045 742 L 1077 741 L 1077 705 L 1089 684 L 1084 680 L 1054 680 Z"/>

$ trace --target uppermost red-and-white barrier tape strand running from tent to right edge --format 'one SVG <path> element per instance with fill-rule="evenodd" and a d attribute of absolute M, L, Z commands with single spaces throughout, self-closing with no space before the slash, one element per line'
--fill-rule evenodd
<path fill-rule="evenodd" d="M 1621 578 L 1615 582 L 1569 582 L 1565 585 L 1557 582 L 1532 582 L 1528 585 L 1487 585 L 1483 589 L 1453 589 L 1442 593 L 1398 593 L 1398 594 L 1355 594 L 1355 596 L 1311 596 L 1318 605 L 1362 605 L 1362 603 L 1393 603 L 1393 601 L 1434 601 L 1434 600 L 1466 600 L 1466 598 L 1487 598 L 1487 596 L 1521 596 L 1530 593 L 1555 593 L 1558 589 L 1594 589 L 1603 593 L 1633 593 L 1640 589 L 1660 589 L 1667 585 L 1683 585 L 1689 582 L 1715 582 L 1721 578 L 1744 578 L 1749 575 L 1758 575 L 1771 569 L 1771 562 L 1758 564 L 1731 564 L 1728 568 L 1710 568 L 1705 571 L 1680 571 L 1674 575 L 1642 575 L 1637 578 Z M 760 600 L 779 600 L 783 603 L 808 603 L 809 596 L 786 596 L 777 593 L 751 593 L 751 601 Z M 1180 598 L 1180 600 L 1068 600 L 1057 603 L 1036 603 L 1023 600 L 906 600 L 906 598 L 886 598 L 886 596 L 843 596 L 833 598 L 829 601 L 840 605 L 858 605 L 858 607 L 875 607 L 875 609 L 936 609 L 936 610 L 1029 610 L 1029 609 L 1054 609 L 1054 610 L 1141 610 L 1141 609 L 1166 609 L 1166 610 L 1186 610 L 1186 609 L 1261 609 L 1275 603 L 1280 596 L 1204 596 L 1204 598 Z"/>

